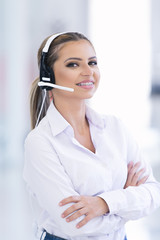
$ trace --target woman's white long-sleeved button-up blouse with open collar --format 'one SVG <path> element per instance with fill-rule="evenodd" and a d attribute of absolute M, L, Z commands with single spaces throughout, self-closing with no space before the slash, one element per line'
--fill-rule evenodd
<path fill-rule="evenodd" d="M 68 240 L 123 240 L 128 220 L 144 217 L 160 206 L 160 184 L 122 122 L 88 106 L 86 117 L 95 153 L 74 138 L 73 128 L 53 103 L 26 138 L 24 179 L 39 239 L 46 229 Z M 149 178 L 138 187 L 123 189 L 130 161 L 141 161 Z M 72 195 L 100 196 L 110 212 L 77 229 L 83 216 L 68 223 L 61 214 L 71 204 L 58 205 Z"/>

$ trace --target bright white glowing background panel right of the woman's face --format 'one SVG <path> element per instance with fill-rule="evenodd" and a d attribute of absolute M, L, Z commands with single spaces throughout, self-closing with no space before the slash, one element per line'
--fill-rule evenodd
<path fill-rule="evenodd" d="M 89 9 L 89 37 L 101 72 L 91 103 L 139 131 L 149 121 L 149 0 L 90 0 Z"/>

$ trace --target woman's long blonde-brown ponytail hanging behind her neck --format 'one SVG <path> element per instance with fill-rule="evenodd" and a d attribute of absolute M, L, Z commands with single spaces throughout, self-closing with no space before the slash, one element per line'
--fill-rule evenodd
<path fill-rule="evenodd" d="M 31 86 L 30 90 L 30 118 L 31 118 L 31 129 L 35 128 L 40 108 L 43 101 L 43 91 L 38 86 L 39 78 L 36 78 Z M 50 99 L 47 92 L 45 103 L 41 112 L 39 121 L 46 115 L 47 109 L 50 105 Z"/>

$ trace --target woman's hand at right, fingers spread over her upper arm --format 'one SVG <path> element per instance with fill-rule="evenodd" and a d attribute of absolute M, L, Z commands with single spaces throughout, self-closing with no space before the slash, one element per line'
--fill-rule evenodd
<path fill-rule="evenodd" d="M 146 182 L 148 176 L 144 176 L 141 178 L 141 176 L 145 172 L 145 168 L 138 170 L 139 167 L 140 162 L 137 162 L 136 164 L 130 162 L 128 164 L 128 175 L 124 188 L 127 188 L 129 186 L 139 186 Z"/>

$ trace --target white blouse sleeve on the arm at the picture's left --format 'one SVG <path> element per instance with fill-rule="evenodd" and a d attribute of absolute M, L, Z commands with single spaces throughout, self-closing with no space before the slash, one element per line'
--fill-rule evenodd
<path fill-rule="evenodd" d="M 58 203 L 68 196 L 78 195 L 78 192 L 53 146 L 41 136 L 32 134 L 26 139 L 24 179 L 41 208 L 49 213 L 67 236 L 100 236 L 124 226 L 125 220 L 114 214 L 94 218 L 80 229 L 76 228 L 80 219 L 67 223 L 61 218 L 62 212 L 69 205 L 59 207 Z"/>

